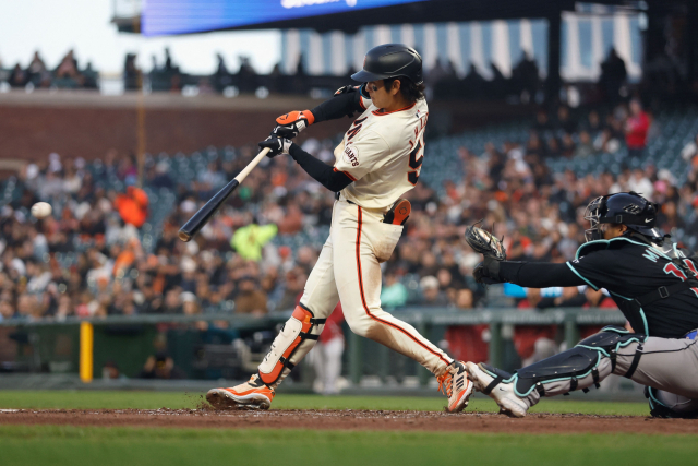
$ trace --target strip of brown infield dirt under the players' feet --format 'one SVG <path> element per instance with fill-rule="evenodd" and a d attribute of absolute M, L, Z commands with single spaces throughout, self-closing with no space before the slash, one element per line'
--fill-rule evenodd
<path fill-rule="evenodd" d="M 167 427 L 200 429 L 316 429 L 454 431 L 492 433 L 635 432 L 698 434 L 698 420 L 653 419 L 639 416 L 531 414 L 512 419 L 491 413 L 388 410 L 216 411 L 202 409 L 70 409 L 0 410 L 0 425 L 60 425 L 77 427 Z"/>

